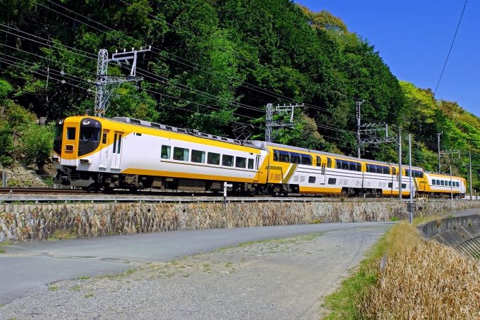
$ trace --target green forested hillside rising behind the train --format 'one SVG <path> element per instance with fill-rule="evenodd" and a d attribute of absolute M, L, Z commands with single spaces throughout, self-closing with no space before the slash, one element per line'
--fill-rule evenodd
<path fill-rule="evenodd" d="M 52 123 L 94 109 L 100 49 L 149 46 L 137 61 L 143 81 L 119 85 L 106 116 L 226 136 L 233 123 L 247 123 L 252 138 L 264 139 L 266 104 L 303 104 L 296 125 L 280 130 L 275 142 L 356 156 L 356 102 L 364 101 L 362 123 L 387 123 L 390 135 L 401 129 L 404 149 L 412 135 L 414 165 L 438 171 L 437 133 L 440 149 L 461 155 L 443 157 L 443 171 L 451 165 L 467 177 L 470 149 L 480 164 L 480 119 L 399 81 L 368 35 L 349 31 L 328 11 L 289 0 L 6 0 L 0 10 L 4 165 L 42 166 L 52 150 Z M 108 73 L 130 70 L 109 63 Z M 366 145 L 361 157 L 396 162 L 397 147 Z"/>

